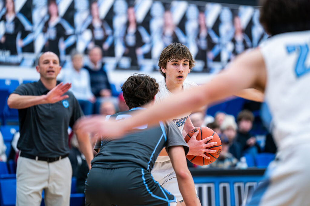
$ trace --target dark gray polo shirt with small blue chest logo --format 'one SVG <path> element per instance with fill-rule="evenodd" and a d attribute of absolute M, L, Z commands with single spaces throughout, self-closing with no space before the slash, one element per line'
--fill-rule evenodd
<path fill-rule="evenodd" d="M 39 80 L 22 84 L 12 93 L 39 96 L 47 92 L 49 90 Z M 50 158 L 69 153 L 68 127 L 73 127 L 83 112 L 71 92 L 67 91 L 65 95 L 69 98 L 54 104 L 39 104 L 18 110 L 18 149 L 33 156 Z"/>

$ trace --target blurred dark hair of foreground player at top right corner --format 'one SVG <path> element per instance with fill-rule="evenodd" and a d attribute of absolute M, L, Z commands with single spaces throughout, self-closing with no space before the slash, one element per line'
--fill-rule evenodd
<path fill-rule="evenodd" d="M 309 0 L 261 0 L 259 21 L 268 34 L 310 30 Z"/>

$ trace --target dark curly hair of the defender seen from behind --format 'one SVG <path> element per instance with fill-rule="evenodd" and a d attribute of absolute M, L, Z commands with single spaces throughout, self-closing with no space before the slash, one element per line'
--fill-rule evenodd
<path fill-rule="evenodd" d="M 158 83 L 146 74 L 134 74 L 121 88 L 125 102 L 131 109 L 152 101 L 158 92 Z"/>

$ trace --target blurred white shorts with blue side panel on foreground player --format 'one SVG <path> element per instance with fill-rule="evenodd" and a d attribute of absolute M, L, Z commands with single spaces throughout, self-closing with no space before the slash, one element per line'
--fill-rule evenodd
<path fill-rule="evenodd" d="M 282 149 L 247 206 L 310 205 L 310 144 Z"/>

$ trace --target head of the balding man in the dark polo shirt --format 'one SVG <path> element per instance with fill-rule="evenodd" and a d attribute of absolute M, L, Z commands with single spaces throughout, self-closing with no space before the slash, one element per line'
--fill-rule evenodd
<path fill-rule="evenodd" d="M 42 54 L 36 69 L 42 78 L 47 80 L 56 79 L 61 69 L 57 55 L 52 52 Z"/>

